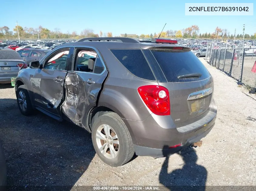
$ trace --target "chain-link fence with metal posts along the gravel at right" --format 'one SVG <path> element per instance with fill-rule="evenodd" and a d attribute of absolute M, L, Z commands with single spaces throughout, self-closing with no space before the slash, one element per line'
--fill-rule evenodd
<path fill-rule="evenodd" d="M 216 48 L 208 42 L 205 60 L 238 82 L 256 88 L 256 48 Z"/>

